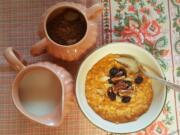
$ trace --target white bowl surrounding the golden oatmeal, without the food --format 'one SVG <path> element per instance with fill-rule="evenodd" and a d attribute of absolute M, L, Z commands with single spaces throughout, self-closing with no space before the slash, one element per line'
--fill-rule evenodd
<path fill-rule="evenodd" d="M 88 105 L 85 96 L 85 81 L 88 71 L 107 54 L 129 54 L 140 62 L 150 66 L 163 77 L 163 72 L 155 58 L 144 49 L 130 43 L 111 43 L 97 49 L 89 55 L 80 66 L 76 80 L 76 97 L 78 104 L 85 116 L 97 127 L 113 133 L 130 133 L 141 130 L 150 125 L 160 114 L 164 106 L 167 90 L 166 87 L 156 81 L 153 85 L 153 100 L 149 110 L 141 115 L 136 121 L 115 124 L 102 119 Z"/>

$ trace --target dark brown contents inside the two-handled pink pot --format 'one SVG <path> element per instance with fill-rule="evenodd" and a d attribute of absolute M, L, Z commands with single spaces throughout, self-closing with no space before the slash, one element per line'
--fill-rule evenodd
<path fill-rule="evenodd" d="M 61 45 L 72 45 L 80 41 L 86 33 L 86 20 L 75 9 L 62 9 L 58 15 L 50 17 L 47 32 L 52 40 Z"/>

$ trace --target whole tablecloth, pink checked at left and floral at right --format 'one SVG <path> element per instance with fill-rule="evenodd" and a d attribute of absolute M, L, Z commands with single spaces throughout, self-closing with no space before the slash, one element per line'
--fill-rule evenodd
<path fill-rule="evenodd" d="M 2 56 L 13 46 L 29 63 L 50 60 L 65 66 L 74 76 L 79 62 L 66 63 L 47 55 L 33 58 L 29 49 L 39 40 L 36 31 L 41 14 L 60 0 L 0 1 L 0 135 L 106 135 L 82 114 L 77 103 L 59 128 L 49 128 L 22 116 L 11 99 L 11 83 L 16 73 Z M 87 7 L 97 1 L 74 0 Z M 180 1 L 179 0 L 101 0 L 96 46 L 128 41 L 150 51 L 168 80 L 180 83 Z M 73 65 L 73 68 L 72 68 Z M 76 65 L 76 66 L 74 66 Z M 74 68 L 75 67 L 75 68 Z M 180 135 L 180 94 L 172 90 L 159 118 L 136 135 Z"/>

